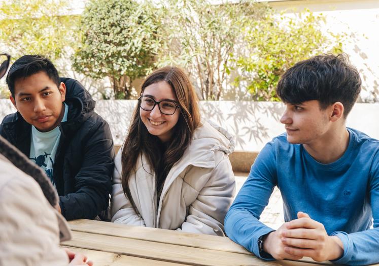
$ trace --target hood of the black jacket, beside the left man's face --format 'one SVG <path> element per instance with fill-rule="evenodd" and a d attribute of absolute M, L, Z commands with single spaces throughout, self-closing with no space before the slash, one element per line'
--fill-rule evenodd
<path fill-rule="evenodd" d="M 66 86 L 65 103 L 68 105 L 68 121 L 82 123 L 94 112 L 96 102 L 91 94 L 79 81 L 70 78 L 60 78 Z"/>

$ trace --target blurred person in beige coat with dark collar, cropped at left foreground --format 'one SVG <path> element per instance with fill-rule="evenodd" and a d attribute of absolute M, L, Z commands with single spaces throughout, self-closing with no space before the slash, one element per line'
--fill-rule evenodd
<path fill-rule="evenodd" d="M 0 78 L 9 60 L 0 54 Z M 57 204 L 42 170 L 0 137 L 0 265 L 93 265 L 86 256 L 58 247 L 71 233 L 53 208 Z"/>

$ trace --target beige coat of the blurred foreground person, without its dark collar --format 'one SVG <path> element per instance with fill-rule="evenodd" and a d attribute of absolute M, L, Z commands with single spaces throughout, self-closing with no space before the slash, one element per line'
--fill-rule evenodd
<path fill-rule="evenodd" d="M 39 184 L 1 153 L 0 210 L 0 265 L 68 265 L 66 252 L 58 247 L 60 227 L 71 237 L 63 216 Z"/>

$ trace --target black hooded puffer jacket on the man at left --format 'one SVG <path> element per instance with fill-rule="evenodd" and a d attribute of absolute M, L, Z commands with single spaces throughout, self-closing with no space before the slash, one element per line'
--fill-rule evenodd
<path fill-rule="evenodd" d="M 114 168 L 113 139 L 108 123 L 94 112 L 95 102 L 76 80 L 66 85 L 67 121 L 59 125 L 59 147 L 53 167 L 62 215 L 91 219 L 107 209 Z M 20 113 L 7 115 L 0 135 L 29 157 L 31 125 Z"/>

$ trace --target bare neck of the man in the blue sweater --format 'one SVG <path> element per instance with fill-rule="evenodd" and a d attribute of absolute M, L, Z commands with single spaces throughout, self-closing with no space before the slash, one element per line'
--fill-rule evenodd
<path fill-rule="evenodd" d="M 342 157 L 349 146 L 349 131 L 346 126 L 332 129 L 311 143 L 303 144 L 305 150 L 318 162 L 332 163 Z"/>

